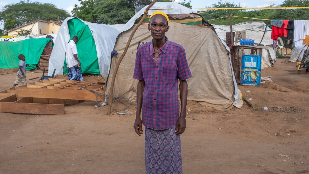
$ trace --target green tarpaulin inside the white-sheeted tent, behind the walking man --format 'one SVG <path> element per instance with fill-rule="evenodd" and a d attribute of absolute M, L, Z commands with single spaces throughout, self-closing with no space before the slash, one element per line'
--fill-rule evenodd
<path fill-rule="evenodd" d="M 76 48 L 78 59 L 81 63 L 82 73 L 100 74 L 98 55 L 95 48 L 95 40 L 89 27 L 77 18 L 68 20 L 70 40 L 73 36 L 78 37 Z M 66 60 L 64 61 L 63 73 L 67 74 Z"/>

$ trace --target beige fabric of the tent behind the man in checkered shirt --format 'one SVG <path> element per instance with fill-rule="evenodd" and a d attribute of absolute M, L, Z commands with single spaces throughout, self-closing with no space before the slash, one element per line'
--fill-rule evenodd
<path fill-rule="evenodd" d="M 234 82 L 229 51 L 219 37 L 209 27 L 189 26 L 170 22 L 166 36 L 170 41 L 182 45 L 186 51 L 192 78 L 188 79 L 188 100 L 218 110 L 232 108 L 234 100 Z M 125 45 L 135 25 L 122 32 L 116 41 L 117 57 L 112 58 L 109 81 L 112 79 L 116 62 L 125 49 Z M 142 24 L 135 32 L 130 47 L 123 58 L 115 81 L 113 96 L 136 100 L 138 80 L 133 79 L 135 56 L 138 45 L 151 41 L 147 24 Z M 110 82 L 107 82 L 107 94 Z"/>

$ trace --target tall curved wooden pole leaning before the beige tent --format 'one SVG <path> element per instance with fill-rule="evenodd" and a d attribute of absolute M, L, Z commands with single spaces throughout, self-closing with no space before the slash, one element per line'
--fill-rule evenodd
<path fill-rule="evenodd" d="M 138 22 L 138 24 L 134 27 L 130 37 L 129 37 L 129 40 L 127 42 L 127 45 L 125 46 L 125 50 L 123 51 L 121 57 L 119 58 L 118 62 L 117 62 L 117 65 L 116 65 L 116 68 L 114 70 L 114 74 L 113 74 L 113 78 L 112 78 L 112 81 L 111 81 L 111 87 L 109 89 L 109 97 L 108 97 L 108 109 L 107 109 L 107 115 L 111 114 L 111 109 L 112 109 L 112 98 L 113 98 L 113 88 L 114 88 L 114 84 L 115 84 L 115 79 L 116 79 L 116 75 L 117 75 L 117 72 L 118 72 L 118 68 L 120 66 L 120 63 L 123 59 L 123 57 L 125 57 L 125 53 L 127 53 L 128 49 L 129 49 L 129 46 L 130 46 L 130 43 L 131 43 L 131 40 L 134 36 L 134 33 L 136 32 L 136 30 L 138 29 L 138 27 L 141 25 L 141 23 L 144 21 L 144 19 L 146 18 L 146 15 L 148 13 L 148 10 L 150 9 L 151 6 L 153 6 L 155 4 L 156 0 L 153 0 L 149 6 L 146 8 L 146 10 L 144 11 L 144 15 L 142 17 L 142 19 Z"/>

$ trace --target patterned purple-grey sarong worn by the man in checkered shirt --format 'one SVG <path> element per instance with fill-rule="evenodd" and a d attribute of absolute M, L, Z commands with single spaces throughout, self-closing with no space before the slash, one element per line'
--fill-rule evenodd
<path fill-rule="evenodd" d="M 180 135 L 175 126 L 154 130 L 145 127 L 146 174 L 182 174 Z"/>

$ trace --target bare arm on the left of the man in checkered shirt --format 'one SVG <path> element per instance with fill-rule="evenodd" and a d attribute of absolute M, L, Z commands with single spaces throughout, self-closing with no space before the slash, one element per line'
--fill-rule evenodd
<path fill-rule="evenodd" d="M 143 105 L 143 94 L 145 89 L 145 81 L 140 80 L 137 84 L 137 92 L 136 92 L 136 118 L 134 122 L 135 133 L 141 136 L 143 134 L 142 129 L 142 119 L 141 119 L 141 111 Z"/>

